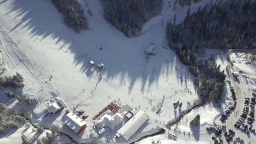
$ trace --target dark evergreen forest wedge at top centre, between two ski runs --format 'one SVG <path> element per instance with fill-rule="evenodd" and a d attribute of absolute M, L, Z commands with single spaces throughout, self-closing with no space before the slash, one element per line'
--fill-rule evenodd
<path fill-rule="evenodd" d="M 163 0 L 101 0 L 104 17 L 125 36 L 131 37 L 141 31 L 151 16 L 163 9 Z"/>

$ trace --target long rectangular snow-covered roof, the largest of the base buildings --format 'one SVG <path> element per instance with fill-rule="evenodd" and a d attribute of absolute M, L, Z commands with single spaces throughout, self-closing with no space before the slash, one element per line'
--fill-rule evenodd
<path fill-rule="evenodd" d="M 130 139 L 141 126 L 148 121 L 148 115 L 144 111 L 138 111 L 117 133 L 120 134 L 126 141 Z"/>

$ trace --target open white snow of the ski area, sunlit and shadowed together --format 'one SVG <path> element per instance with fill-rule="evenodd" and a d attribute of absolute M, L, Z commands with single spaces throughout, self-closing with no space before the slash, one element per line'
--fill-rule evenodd
<path fill-rule="evenodd" d="M 62 14 L 56 10 L 51 0 L 0 0 L 0 68 L 7 69 L 0 75 L 13 75 L 16 72 L 22 74 L 26 85 L 22 91 L 14 91 L 11 88 L 7 90 L 17 95 L 37 98 L 39 103 L 31 107 L 20 106 L 17 101 L 10 101 L 3 94 L 3 88 L 0 91 L 0 102 L 6 103 L 8 108 L 19 110 L 23 107 L 31 111 L 32 122 L 43 127 L 51 128 L 52 124 L 58 124 L 63 133 L 78 143 L 90 142 L 95 137 L 102 143 L 107 139 L 114 140 L 111 142 L 130 143 L 159 131 L 161 127 L 166 129 L 167 122 L 174 121 L 181 115 L 181 110 L 190 108 L 187 102 L 192 104 L 194 99 L 198 98 L 197 89 L 193 85 L 194 76 L 190 75 L 187 66 L 179 62 L 175 52 L 164 48 L 168 46 L 165 38 L 166 23 L 174 17 L 172 7 L 169 8 L 169 4 L 165 3 L 162 13 L 149 20 L 138 36 L 127 38 L 105 21 L 99 0 L 88 2 L 92 17 L 86 13 L 88 7 L 85 6 L 85 1 L 80 1 L 91 29 L 75 33 L 63 22 Z M 206 4 L 207 0 L 192 3 L 191 13 Z M 188 7 L 177 8 L 176 23 L 184 20 L 187 9 Z M 144 53 L 150 43 L 155 43 L 155 55 Z M 99 49 L 101 46 L 102 49 Z M 219 56 L 217 63 L 226 64 L 226 54 Z M 100 71 L 97 66 L 92 67 L 90 60 L 95 62 L 95 65 L 103 63 L 104 70 Z M 223 69 L 225 67 L 222 66 Z M 206 127 L 209 124 L 213 125 L 212 122 L 215 120 L 220 122 L 220 112 L 232 104 L 228 93 L 230 92 L 227 91 L 223 100 L 226 104 L 221 108 L 209 104 L 186 115 L 189 123 L 195 115 L 200 114 L 200 126 L 191 129 L 184 117 L 179 126 L 171 127 L 169 130 L 177 138 L 165 133 L 155 136 L 155 139 L 159 138 L 166 144 L 209 144 L 211 136 L 207 133 Z M 152 111 L 152 107 L 159 105 L 163 97 L 163 107 L 157 115 Z M 133 112 L 135 108 L 140 107 L 139 109 L 149 116 L 149 120 L 128 141 L 122 138 L 115 139 L 121 125 L 113 130 L 105 127 L 106 131 L 101 135 L 98 134 L 98 129 L 93 128 L 93 124 L 96 123 L 92 120 L 93 116 L 109 103 L 118 101 L 118 98 L 121 105 L 131 106 Z M 175 111 L 173 103 L 177 98 L 180 98 L 179 103 L 182 102 L 183 107 Z M 43 118 L 46 114 L 46 103 L 50 99 L 64 102 L 64 109 L 50 115 L 51 117 L 47 115 Z M 75 113 L 83 109 L 89 114 L 84 120 L 87 127 L 79 135 L 62 125 L 65 110 L 78 104 L 80 105 Z M 22 143 L 20 134 L 23 133 L 23 129 L 10 131 L 13 132 L 0 134 L 0 143 Z M 25 134 L 30 134 L 30 131 L 26 131 Z M 15 141 L 12 137 L 15 137 Z M 60 138 L 61 142 L 70 142 L 64 137 Z M 149 143 L 152 138 L 154 137 L 148 137 L 140 143 Z M 250 139 L 252 141 L 255 137 Z"/>

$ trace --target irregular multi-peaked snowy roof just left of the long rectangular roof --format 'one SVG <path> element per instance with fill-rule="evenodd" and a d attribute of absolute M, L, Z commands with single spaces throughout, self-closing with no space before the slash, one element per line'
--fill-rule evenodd
<path fill-rule="evenodd" d="M 116 114 L 113 118 L 110 115 L 103 115 L 101 119 L 94 124 L 94 126 L 99 128 L 108 126 L 108 128 L 114 129 L 115 126 L 123 122 L 123 119 L 124 118 L 122 118 L 122 116 L 119 114 Z"/>

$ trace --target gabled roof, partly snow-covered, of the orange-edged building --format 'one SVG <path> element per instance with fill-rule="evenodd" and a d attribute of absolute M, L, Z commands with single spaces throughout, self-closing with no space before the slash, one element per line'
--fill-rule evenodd
<path fill-rule="evenodd" d="M 79 131 L 79 129 L 85 125 L 86 123 L 75 115 L 73 112 L 68 113 L 62 120 L 69 128 L 71 128 L 75 133 Z"/>

